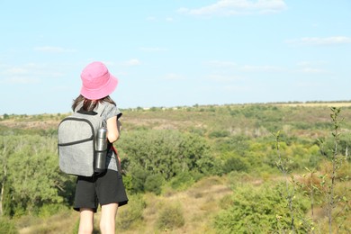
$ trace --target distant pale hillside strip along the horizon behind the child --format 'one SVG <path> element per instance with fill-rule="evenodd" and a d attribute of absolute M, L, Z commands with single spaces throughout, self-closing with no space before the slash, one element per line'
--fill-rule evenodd
<path fill-rule="evenodd" d="M 343 109 L 350 117 L 351 102 L 347 103 L 248 103 L 228 105 L 195 105 L 193 107 L 121 109 L 124 130 L 140 128 L 156 130 L 241 128 L 242 123 L 253 125 L 275 121 L 277 125 L 293 122 L 329 122 L 329 107 Z M 9 129 L 54 130 L 69 113 L 0 116 L 0 126 Z M 261 117 L 260 117 L 261 115 Z"/>

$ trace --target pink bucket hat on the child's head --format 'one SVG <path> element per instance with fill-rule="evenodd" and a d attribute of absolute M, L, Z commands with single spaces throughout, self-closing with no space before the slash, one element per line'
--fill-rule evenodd
<path fill-rule="evenodd" d="M 80 94 L 90 100 L 98 100 L 112 94 L 118 79 L 109 72 L 102 62 L 88 64 L 80 75 L 82 88 Z"/>

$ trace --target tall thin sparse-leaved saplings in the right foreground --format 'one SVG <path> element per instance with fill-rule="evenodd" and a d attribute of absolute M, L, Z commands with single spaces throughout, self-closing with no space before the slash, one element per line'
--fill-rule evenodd
<path fill-rule="evenodd" d="M 284 175 L 285 179 L 285 190 L 286 190 L 286 200 L 288 202 L 289 210 L 291 213 L 291 224 L 292 224 L 292 231 L 294 232 L 294 209 L 293 209 L 293 202 L 295 196 L 295 185 L 298 185 L 297 188 L 302 188 L 302 191 L 308 195 L 311 199 L 311 225 L 310 229 L 313 231 L 316 228 L 315 223 L 315 216 L 314 216 L 314 209 L 315 209 L 315 202 L 318 201 L 323 205 L 323 208 L 326 210 L 326 215 L 328 218 L 329 223 L 329 233 L 333 233 L 333 229 L 343 229 L 345 225 L 343 224 L 344 221 L 347 219 L 347 211 L 349 210 L 349 204 L 347 199 L 347 190 L 343 190 L 341 193 L 337 192 L 338 188 L 338 181 L 347 181 L 349 175 L 341 176 L 339 171 L 342 167 L 346 167 L 347 164 L 347 157 L 343 157 L 340 155 L 339 146 L 339 139 L 340 139 L 340 128 L 341 128 L 341 121 L 340 121 L 340 109 L 332 107 L 330 117 L 333 123 L 333 130 L 332 130 L 332 145 L 329 146 L 329 151 L 331 152 L 331 156 L 329 156 L 330 166 L 327 170 L 325 175 L 320 175 L 320 181 L 317 181 L 314 174 L 316 174 L 316 169 L 310 170 L 306 167 L 309 178 L 307 181 L 302 182 L 296 181 L 294 176 L 291 175 L 291 168 L 292 163 L 289 157 L 283 157 L 281 154 L 280 146 L 280 132 L 274 134 L 275 136 L 275 148 L 278 154 L 277 166 L 279 167 L 280 171 Z M 320 141 L 323 143 L 322 141 Z M 324 148 L 321 145 L 321 148 Z M 289 184 L 288 175 L 291 175 L 293 184 Z M 305 177 L 305 175 L 303 175 Z M 307 183 L 306 183 L 307 182 Z M 318 185 L 317 183 L 320 183 Z M 323 201 L 323 198 L 325 200 Z M 341 218 L 341 221 L 339 221 Z"/>

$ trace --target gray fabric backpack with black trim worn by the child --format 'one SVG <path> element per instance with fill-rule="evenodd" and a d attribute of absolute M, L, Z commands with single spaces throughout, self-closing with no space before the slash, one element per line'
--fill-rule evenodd
<path fill-rule="evenodd" d="M 103 126 L 103 109 L 76 111 L 58 125 L 59 168 L 69 175 L 94 175 L 96 131 Z M 97 109 L 97 110 L 96 110 Z"/>

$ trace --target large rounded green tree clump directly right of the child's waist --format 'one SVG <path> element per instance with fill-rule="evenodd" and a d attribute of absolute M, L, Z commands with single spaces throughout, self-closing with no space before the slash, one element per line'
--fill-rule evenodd
<path fill-rule="evenodd" d="M 127 158 L 123 162 L 126 187 L 133 193 L 152 191 L 162 184 L 161 177 L 169 181 L 185 171 L 210 174 L 214 161 L 202 137 L 175 130 L 131 132 L 121 139 L 119 148 L 121 157 Z"/>

